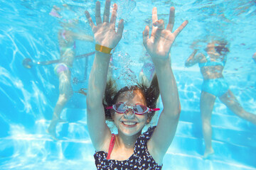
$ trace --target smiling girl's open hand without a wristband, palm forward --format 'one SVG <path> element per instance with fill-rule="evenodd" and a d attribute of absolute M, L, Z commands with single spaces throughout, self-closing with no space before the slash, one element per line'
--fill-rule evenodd
<path fill-rule="evenodd" d="M 162 59 L 165 60 L 169 57 L 169 52 L 171 50 L 171 45 L 173 44 L 175 38 L 177 37 L 178 33 L 183 30 L 183 28 L 188 24 L 188 21 L 184 21 L 181 26 L 178 27 L 171 33 L 174 27 L 174 16 L 175 16 L 175 9 L 174 7 L 170 8 L 169 14 L 169 23 L 164 29 L 164 21 L 158 20 L 157 18 L 157 9 L 156 7 L 153 8 L 152 11 L 152 31 L 151 37 L 149 38 L 149 26 L 146 26 L 145 30 L 143 31 L 143 43 L 146 47 L 147 52 L 151 55 L 151 58 L 154 59 Z"/>

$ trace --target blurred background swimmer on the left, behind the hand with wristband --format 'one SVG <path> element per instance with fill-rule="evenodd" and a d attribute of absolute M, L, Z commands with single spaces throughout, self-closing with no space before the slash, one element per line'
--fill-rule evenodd
<path fill-rule="evenodd" d="M 65 7 L 67 7 L 65 5 Z M 67 8 L 65 8 L 67 10 Z M 54 6 L 51 13 L 57 18 L 63 18 L 58 11 L 60 8 Z M 63 18 L 65 19 L 65 18 Z M 75 59 L 75 40 L 85 40 L 93 42 L 93 38 L 90 35 L 84 33 L 75 33 L 77 20 L 69 21 L 68 23 L 62 24 L 62 29 L 58 30 L 58 43 L 60 45 L 60 62 L 55 66 L 55 74 L 59 79 L 59 97 L 53 111 L 53 118 L 50 121 L 50 125 L 46 132 L 48 132 L 53 139 L 58 140 L 56 137 L 56 125 L 63 120 L 60 119 L 60 113 L 63 111 L 65 104 L 68 103 L 71 96 L 73 96 L 73 89 L 71 86 L 71 72 L 73 68 L 73 62 Z M 80 91 L 81 92 L 81 91 Z M 84 92 L 84 91 L 83 91 Z"/>

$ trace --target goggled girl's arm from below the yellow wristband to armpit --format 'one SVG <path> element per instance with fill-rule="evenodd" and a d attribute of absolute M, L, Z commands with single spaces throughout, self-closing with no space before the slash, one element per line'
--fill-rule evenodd
<path fill-rule="evenodd" d="M 107 81 L 107 69 L 111 55 L 95 53 L 95 60 L 90 72 L 87 91 L 87 127 L 96 151 L 104 150 L 105 141 L 111 138 L 110 128 L 105 121 L 105 109 L 102 105 Z"/>

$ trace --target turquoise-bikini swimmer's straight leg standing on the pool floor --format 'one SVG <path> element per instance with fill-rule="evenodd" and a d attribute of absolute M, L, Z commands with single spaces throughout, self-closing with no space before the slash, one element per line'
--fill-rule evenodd
<path fill-rule="evenodd" d="M 210 125 L 210 118 L 213 112 L 213 106 L 215 103 L 216 97 L 213 94 L 209 94 L 206 91 L 201 92 L 200 98 L 200 110 L 201 110 L 201 118 L 203 125 L 203 139 L 205 141 L 205 152 L 203 154 L 203 159 L 206 159 L 210 156 L 210 154 L 214 153 L 212 147 L 212 128 Z"/>

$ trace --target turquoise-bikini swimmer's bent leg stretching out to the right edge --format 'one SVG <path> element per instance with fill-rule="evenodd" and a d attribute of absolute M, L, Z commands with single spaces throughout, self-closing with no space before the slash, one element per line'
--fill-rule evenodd
<path fill-rule="evenodd" d="M 256 125 L 256 115 L 245 111 L 244 108 L 238 102 L 238 99 L 235 98 L 232 91 L 228 90 L 227 93 L 220 96 L 220 101 L 225 104 L 233 113 L 238 115 L 240 118 L 248 120 L 250 123 Z"/>

